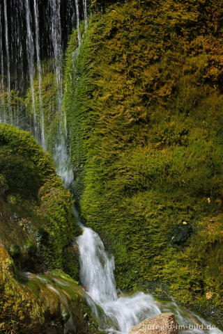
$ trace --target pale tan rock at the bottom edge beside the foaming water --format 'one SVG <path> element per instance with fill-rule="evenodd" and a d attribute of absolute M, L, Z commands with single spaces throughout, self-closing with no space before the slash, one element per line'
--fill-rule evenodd
<path fill-rule="evenodd" d="M 178 325 L 174 313 L 161 313 L 130 328 L 129 334 L 176 334 Z"/>

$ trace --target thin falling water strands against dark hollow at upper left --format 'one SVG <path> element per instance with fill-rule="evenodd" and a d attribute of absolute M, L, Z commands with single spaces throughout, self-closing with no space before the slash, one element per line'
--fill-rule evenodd
<path fill-rule="evenodd" d="M 71 186 L 74 176 L 62 103 L 63 53 L 75 26 L 81 42 L 79 22 L 82 19 L 86 27 L 86 0 L 0 0 L 0 122 L 31 131 L 43 149 L 51 152 L 56 172 L 66 187 Z M 48 120 L 43 108 L 42 85 L 47 59 L 50 59 L 49 64 L 53 63 L 55 74 L 54 114 L 57 125 L 53 131 L 54 138 L 47 135 L 45 122 Z M 38 82 L 38 89 L 34 80 Z M 11 107 L 13 92 L 18 90 L 17 96 L 25 95 L 28 86 L 32 118 L 15 103 Z"/>

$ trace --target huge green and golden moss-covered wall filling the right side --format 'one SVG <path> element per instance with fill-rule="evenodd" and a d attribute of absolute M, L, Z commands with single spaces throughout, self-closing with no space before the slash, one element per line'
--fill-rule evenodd
<path fill-rule="evenodd" d="M 151 0 L 95 13 L 79 49 L 70 38 L 64 102 L 73 191 L 115 255 L 118 287 L 153 283 L 219 322 L 222 8 Z"/>

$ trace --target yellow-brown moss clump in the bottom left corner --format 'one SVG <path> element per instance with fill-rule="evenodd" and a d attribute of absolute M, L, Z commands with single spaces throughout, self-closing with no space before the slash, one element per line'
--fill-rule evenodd
<path fill-rule="evenodd" d="M 0 247 L 0 328 L 4 333 L 17 333 L 31 328 L 41 328 L 44 322 L 43 304 L 31 290 L 15 279 L 13 260 Z"/>

